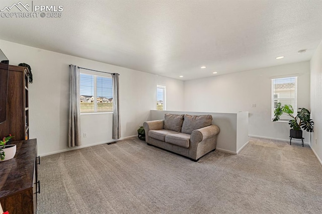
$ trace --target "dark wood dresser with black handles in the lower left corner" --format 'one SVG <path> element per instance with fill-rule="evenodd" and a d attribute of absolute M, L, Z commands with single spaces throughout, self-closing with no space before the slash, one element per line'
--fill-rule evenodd
<path fill-rule="evenodd" d="M 37 212 L 40 182 L 37 176 L 37 140 L 15 141 L 17 153 L 0 162 L 0 203 L 10 214 Z"/>

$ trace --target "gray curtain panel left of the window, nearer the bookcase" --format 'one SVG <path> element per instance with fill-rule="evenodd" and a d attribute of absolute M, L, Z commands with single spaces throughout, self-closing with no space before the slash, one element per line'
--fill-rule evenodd
<path fill-rule="evenodd" d="M 70 65 L 68 147 L 81 146 L 79 112 L 79 68 L 76 65 Z"/>

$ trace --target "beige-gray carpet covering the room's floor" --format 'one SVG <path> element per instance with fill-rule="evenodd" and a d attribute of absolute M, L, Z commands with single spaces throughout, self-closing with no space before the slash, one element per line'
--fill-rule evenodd
<path fill-rule="evenodd" d="M 42 157 L 39 178 L 38 213 L 322 213 L 322 166 L 300 143 L 193 162 L 131 138 Z"/>

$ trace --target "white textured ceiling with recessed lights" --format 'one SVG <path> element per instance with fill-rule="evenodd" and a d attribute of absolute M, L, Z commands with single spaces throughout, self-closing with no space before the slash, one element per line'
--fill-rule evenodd
<path fill-rule="evenodd" d="M 322 40 L 322 0 L 21 2 L 62 17 L 0 17 L 0 39 L 182 80 L 307 61 Z"/>

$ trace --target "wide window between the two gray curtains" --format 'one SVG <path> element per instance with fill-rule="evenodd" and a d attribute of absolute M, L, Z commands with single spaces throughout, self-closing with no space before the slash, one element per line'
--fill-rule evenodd
<path fill-rule="evenodd" d="M 80 74 L 79 108 L 81 113 L 112 112 L 112 78 L 88 73 Z"/>

